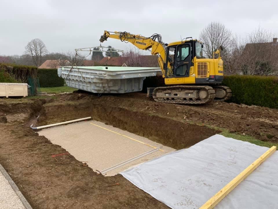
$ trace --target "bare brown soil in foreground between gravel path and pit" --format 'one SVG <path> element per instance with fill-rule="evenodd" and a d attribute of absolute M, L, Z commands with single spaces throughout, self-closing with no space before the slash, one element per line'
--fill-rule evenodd
<path fill-rule="evenodd" d="M 34 209 L 167 208 L 119 174 L 97 175 L 69 154 L 57 162 L 51 156 L 66 150 L 30 129 L 5 124 L 0 131 L 1 165 Z"/>

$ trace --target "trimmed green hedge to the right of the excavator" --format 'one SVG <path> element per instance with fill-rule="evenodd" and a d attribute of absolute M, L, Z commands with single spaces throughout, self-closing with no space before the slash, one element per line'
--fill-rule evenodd
<path fill-rule="evenodd" d="M 223 85 L 232 89 L 228 102 L 278 108 L 277 76 L 229 75 Z"/>

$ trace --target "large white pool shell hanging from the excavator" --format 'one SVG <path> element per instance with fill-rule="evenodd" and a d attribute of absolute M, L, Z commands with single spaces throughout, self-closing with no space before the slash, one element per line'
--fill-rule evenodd
<path fill-rule="evenodd" d="M 58 76 L 67 86 L 93 93 L 127 93 L 142 91 L 143 80 L 156 76 L 160 68 L 61 66 Z"/>

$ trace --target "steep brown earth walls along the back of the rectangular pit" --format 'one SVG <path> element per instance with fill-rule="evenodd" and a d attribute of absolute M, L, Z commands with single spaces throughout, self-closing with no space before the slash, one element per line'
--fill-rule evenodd
<path fill-rule="evenodd" d="M 144 136 L 175 149 L 190 147 L 217 133 L 208 127 L 162 118 L 147 112 L 131 111 L 113 104 L 94 104 L 92 101 L 47 103 L 42 109 L 43 114 L 37 125 L 91 116 L 93 120 Z"/>

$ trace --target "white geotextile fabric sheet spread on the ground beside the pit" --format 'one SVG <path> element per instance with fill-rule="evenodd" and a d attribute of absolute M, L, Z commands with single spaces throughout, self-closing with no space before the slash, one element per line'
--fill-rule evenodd
<path fill-rule="evenodd" d="M 171 208 L 197 209 L 268 149 L 217 134 L 120 174 Z M 278 208 L 277 198 L 275 152 L 215 208 Z"/>

